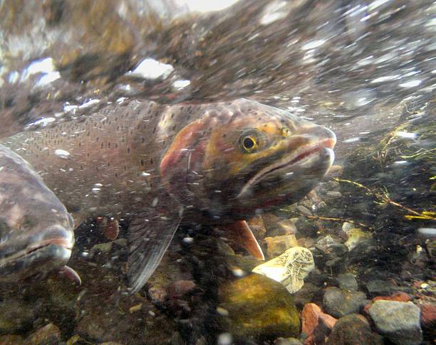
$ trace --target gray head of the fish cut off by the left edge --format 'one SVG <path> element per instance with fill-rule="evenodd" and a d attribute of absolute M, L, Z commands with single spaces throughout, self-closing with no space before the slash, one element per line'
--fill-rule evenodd
<path fill-rule="evenodd" d="M 18 282 L 66 265 L 73 219 L 33 168 L 0 145 L 0 282 Z"/>

